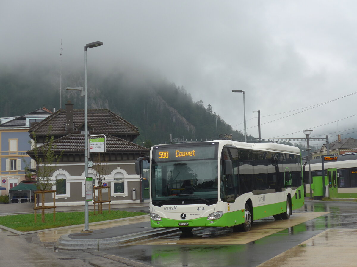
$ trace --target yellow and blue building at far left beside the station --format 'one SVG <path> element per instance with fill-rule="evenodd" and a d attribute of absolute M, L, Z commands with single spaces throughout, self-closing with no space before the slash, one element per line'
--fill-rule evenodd
<path fill-rule="evenodd" d="M 31 149 L 29 128 L 44 120 L 52 112 L 46 108 L 37 109 L 25 115 L 5 121 L 0 125 L 0 186 L 1 194 L 8 194 L 9 190 L 25 179 L 25 167 L 35 167 L 27 155 Z"/>

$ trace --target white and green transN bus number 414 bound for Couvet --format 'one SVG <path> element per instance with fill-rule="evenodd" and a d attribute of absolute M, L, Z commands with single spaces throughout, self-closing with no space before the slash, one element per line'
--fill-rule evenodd
<path fill-rule="evenodd" d="M 235 227 L 253 220 L 289 219 L 304 204 L 297 147 L 231 140 L 153 146 L 150 156 L 151 227 Z"/>

